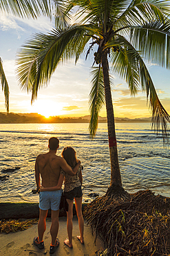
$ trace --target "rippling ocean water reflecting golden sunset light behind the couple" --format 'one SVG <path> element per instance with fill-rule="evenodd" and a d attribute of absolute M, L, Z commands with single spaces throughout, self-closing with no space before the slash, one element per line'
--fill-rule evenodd
<path fill-rule="evenodd" d="M 83 201 L 90 194 L 102 196 L 110 183 L 107 124 L 100 123 L 96 137 L 89 138 L 87 123 L 74 124 L 1 124 L 0 125 L 0 201 L 38 202 L 34 163 L 36 156 L 47 152 L 48 139 L 60 140 L 63 147 L 76 150 L 83 165 Z M 116 123 L 118 157 L 123 188 L 129 193 L 151 190 L 170 196 L 170 151 L 149 123 Z M 15 168 L 17 167 L 17 168 Z M 7 168 L 15 168 L 6 172 Z M 3 179 L 2 179 L 3 178 Z"/>

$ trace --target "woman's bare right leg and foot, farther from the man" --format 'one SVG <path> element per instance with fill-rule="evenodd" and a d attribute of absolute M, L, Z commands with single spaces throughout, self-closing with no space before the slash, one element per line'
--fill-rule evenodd
<path fill-rule="evenodd" d="M 76 205 L 76 214 L 78 217 L 78 225 L 81 235 L 77 236 L 77 238 L 81 241 L 81 244 L 84 244 L 83 233 L 84 233 L 84 219 L 82 214 L 82 196 L 75 197 L 75 205 Z"/>

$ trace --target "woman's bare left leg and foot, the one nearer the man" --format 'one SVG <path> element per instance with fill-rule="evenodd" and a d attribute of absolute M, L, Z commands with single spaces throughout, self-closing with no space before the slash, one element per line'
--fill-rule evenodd
<path fill-rule="evenodd" d="M 66 199 L 68 203 L 68 212 L 67 212 L 67 233 L 68 239 L 65 239 L 64 243 L 72 248 L 72 218 L 73 218 L 73 202 L 74 200 Z"/>

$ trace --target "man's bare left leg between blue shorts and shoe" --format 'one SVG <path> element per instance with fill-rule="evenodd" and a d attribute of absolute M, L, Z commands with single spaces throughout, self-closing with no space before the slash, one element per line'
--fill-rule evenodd
<path fill-rule="evenodd" d="M 48 210 L 39 209 L 39 223 L 38 223 L 38 233 L 39 233 L 39 242 L 43 241 L 43 234 L 46 230 L 46 217 Z"/>

